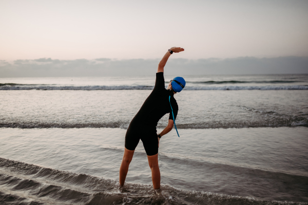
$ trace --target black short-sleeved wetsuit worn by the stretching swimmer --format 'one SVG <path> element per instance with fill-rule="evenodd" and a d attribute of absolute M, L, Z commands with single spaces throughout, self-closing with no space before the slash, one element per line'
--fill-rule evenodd
<path fill-rule="evenodd" d="M 158 153 L 157 122 L 166 113 L 173 120 L 170 103 L 175 119 L 178 114 L 178 104 L 174 93 L 165 89 L 164 73 L 156 73 L 155 87 L 146 98 L 139 112 L 131 120 L 125 136 L 125 148 L 135 150 L 141 139 L 145 152 L 148 156 Z"/>

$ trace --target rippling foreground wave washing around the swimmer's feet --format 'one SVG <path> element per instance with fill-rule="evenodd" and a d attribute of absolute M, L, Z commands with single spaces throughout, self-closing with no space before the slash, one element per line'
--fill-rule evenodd
<path fill-rule="evenodd" d="M 308 204 L 197 192 L 39 167 L 0 158 L 0 201 L 5 204 Z"/>

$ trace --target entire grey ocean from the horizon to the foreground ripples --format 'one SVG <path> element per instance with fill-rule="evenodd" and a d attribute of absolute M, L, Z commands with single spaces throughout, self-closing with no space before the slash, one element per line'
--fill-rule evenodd
<path fill-rule="evenodd" d="M 155 73 L 0 78 L 0 204 L 308 204 L 308 75 L 183 77 L 160 191 L 142 142 L 118 181 Z"/>

